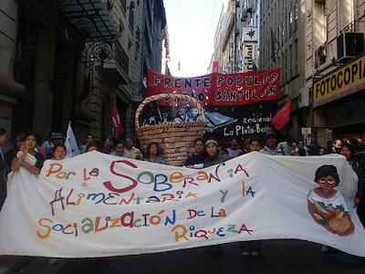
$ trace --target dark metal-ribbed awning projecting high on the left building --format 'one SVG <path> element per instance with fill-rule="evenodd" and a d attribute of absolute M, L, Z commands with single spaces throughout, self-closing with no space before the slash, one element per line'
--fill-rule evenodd
<path fill-rule="evenodd" d="M 110 40 L 116 24 L 102 0 L 58 0 L 58 9 L 87 40 Z"/>

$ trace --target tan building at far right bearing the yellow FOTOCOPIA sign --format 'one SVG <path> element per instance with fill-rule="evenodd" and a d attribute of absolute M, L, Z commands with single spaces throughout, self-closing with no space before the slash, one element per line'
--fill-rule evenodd
<path fill-rule="evenodd" d="M 306 1 L 306 83 L 314 136 L 365 138 L 364 0 Z"/>

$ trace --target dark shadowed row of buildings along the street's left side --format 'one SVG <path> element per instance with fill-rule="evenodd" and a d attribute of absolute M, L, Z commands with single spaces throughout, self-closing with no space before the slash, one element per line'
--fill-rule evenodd
<path fill-rule="evenodd" d="M 133 133 L 146 71 L 162 69 L 162 1 L 5 0 L 0 9 L 1 126 L 46 138 L 72 121 L 78 142 L 100 140 L 116 104 Z"/>

